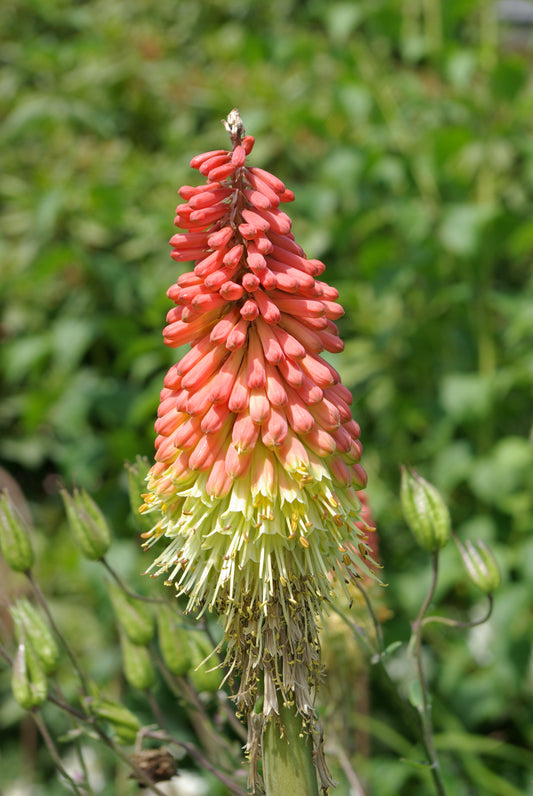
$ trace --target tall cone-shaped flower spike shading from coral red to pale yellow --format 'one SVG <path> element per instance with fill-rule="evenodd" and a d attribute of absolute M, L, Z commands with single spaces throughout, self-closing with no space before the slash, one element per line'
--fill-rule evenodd
<path fill-rule="evenodd" d="M 254 139 L 236 111 L 225 124 L 232 150 L 194 157 L 206 183 L 179 191 L 171 256 L 195 265 L 168 291 L 163 334 L 190 349 L 161 392 L 146 546 L 165 537 L 151 569 L 187 610 L 222 617 L 239 706 L 252 710 L 259 684 L 265 716 L 280 694 L 306 716 L 331 571 L 368 571 L 360 429 L 320 356 L 343 348 L 338 292 L 295 242 L 280 209 L 293 193 L 247 165 Z"/>

